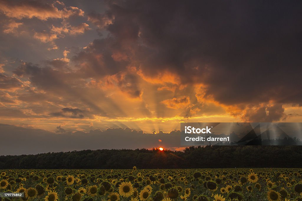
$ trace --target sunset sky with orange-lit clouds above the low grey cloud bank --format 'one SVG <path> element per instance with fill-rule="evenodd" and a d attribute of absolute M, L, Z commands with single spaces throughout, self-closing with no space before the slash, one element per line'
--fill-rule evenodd
<path fill-rule="evenodd" d="M 0 0 L 0 123 L 156 134 L 301 122 L 301 6 Z"/>

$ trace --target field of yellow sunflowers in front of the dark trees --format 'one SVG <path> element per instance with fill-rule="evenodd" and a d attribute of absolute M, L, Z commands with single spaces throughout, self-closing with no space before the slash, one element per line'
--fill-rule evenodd
<path fill-rule="evenodd" d="M 46 201 L 302 201 L 301 175 L 294 168 L 1 170 L 0 192 Z"/>

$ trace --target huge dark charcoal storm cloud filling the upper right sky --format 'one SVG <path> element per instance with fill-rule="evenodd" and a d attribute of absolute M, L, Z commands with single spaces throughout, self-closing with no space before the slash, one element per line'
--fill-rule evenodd
<path fill-rule="evenodd" d="M 227 105 L 300 104 L 301 5 L 124 1 L 107 11 L 107 30 L 131 47 L 143 74 L 168 70 L 182 83 L 205 83 L 206 95 Z"/>

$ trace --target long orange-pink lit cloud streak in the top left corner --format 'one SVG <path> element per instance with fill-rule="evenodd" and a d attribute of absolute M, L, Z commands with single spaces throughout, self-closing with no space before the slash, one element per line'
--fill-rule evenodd
<path fill-rule="evenodd" d="M 62 10 L 56 8 L 53 4 L 44 4 L 40 1 L 0 1 L 0 10 L 7 17 L 17 19 L 37 17 L 40 20 L 49 18 L 69 18 L 72 15 L 83 16 L 84 11 L 77 7 L 65 7 Z"/>

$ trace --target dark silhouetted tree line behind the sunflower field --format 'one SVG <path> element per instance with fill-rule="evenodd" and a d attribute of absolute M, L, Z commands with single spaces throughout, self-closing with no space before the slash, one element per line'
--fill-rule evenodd
<path fill-rule="evenodd" d="M 302 146 L 190 146 L 184 151 L 98 149 L 0 156 L 0 169 L 302 167 Z"/>

